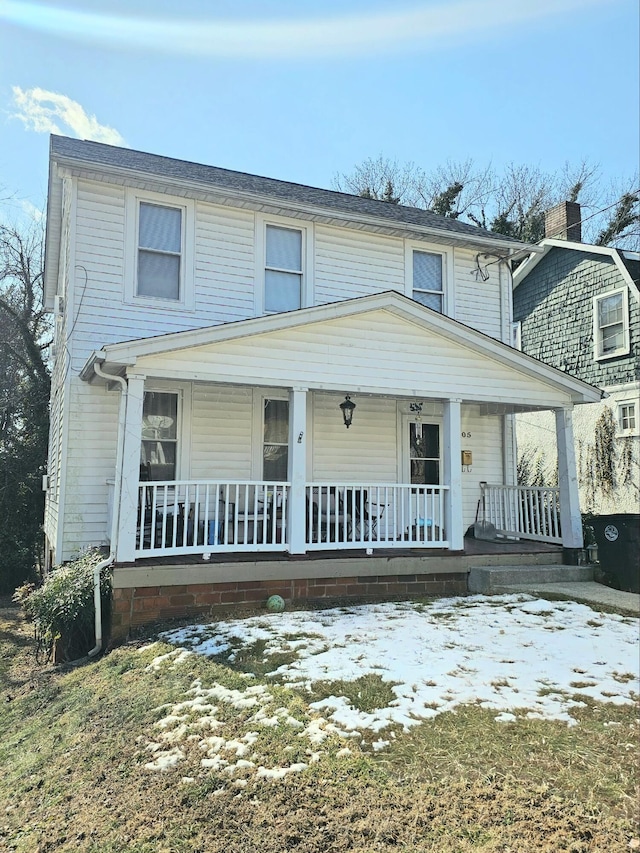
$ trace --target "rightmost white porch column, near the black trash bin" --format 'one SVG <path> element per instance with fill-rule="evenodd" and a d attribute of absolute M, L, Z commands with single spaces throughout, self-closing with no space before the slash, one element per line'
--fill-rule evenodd
<path fill-rule="evenodd" d="M 571 408 L 556 409 L 555 415 L 562 547 L 565 550 L 565 562 L 573 563 L 574 558 L 577 562 L 577 554 L 572 554 L 572 552 L 582 548 L 584 541 L 582 517 L 580 515 L 576 450 L 573 440 L 573 410 Z"/>

